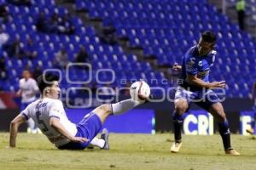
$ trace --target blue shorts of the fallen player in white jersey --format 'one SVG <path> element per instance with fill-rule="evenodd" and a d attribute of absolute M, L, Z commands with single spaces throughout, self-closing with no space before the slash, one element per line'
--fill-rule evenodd
<path fill-rule="evenodd" d="M 58 147 L 60 150 L 84 150 L 94 137 L 96 137 L 97 133 L 102 129 L 102 122 L 100 117 L 95 113 L 90 112 L 82 119 L 79 124 L 77 124 L 78 133 L 76 137 L 83 137 L 89 139 L 88 142 L 84 143 L 73 143 L 70 142 L 68 144 L 64 144 Z"/>

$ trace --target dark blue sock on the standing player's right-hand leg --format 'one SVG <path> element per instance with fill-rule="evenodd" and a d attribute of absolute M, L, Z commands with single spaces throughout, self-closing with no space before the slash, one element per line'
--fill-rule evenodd
<path fill-rule="evenodd" d="M 218 122 L 218 131 L 223 141 L 224 150 L 231 149 L 229 122 L 227 120 L 224 122 Z"/>

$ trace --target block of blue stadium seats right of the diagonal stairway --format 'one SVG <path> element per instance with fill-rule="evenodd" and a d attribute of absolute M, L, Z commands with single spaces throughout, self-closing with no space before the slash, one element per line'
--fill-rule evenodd
<path fill-rule="evenodd" d="M 91 17 L 102 18 L 105 26 L 113 23 L 119 36 L 129 37 L 131 46 L 142 46 L 145 54 L 157 55 L 160 65 L 180 63 L 201 31 L 218 32 L 212 78 L 228 82 L 229 97 L 247 97 L 253 83 L 250 72 L 255 72 L 256 43 L 207 1 L 77 0 L 76 5 L 88 9 Z"/>

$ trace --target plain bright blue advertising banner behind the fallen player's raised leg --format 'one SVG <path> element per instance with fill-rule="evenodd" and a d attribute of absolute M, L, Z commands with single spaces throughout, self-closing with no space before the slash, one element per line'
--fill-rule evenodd
<path fill-rule="evenodd" d="M 79 123 L 92 109 L 66 109 L 71 122 Z M 133 109 L 123 115 L 108 116 L 103 127 L 111 133 L 155 133 L 154 110 Z"/>

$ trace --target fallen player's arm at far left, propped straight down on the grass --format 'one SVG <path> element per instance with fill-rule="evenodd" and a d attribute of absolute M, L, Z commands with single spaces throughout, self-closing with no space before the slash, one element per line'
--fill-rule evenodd
<path fill-rule="evenodd" d="M 20 124 L 26 122 L 24 115 L 20 114 L 15 117 L 15 119 L 10 123 L 9 127 L 9 147 L 15 148 L 16 146 L 16 137 Z"/>

